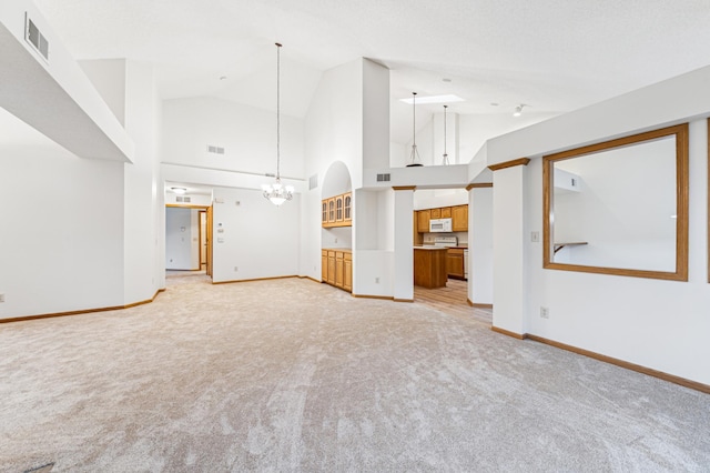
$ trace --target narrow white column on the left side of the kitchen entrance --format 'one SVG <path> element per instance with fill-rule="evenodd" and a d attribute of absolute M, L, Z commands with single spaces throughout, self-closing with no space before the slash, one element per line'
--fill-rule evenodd
<path fill-rule="evenodd" d="M 395 190 L 394 300 L 414 301 L 414 187 Z"/>

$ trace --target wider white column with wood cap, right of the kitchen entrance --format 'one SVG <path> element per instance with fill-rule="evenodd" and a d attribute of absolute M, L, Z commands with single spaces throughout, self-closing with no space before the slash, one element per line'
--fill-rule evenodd
<path fill-rule="evenodd" d="M 493 329 L 524 336 L 525 187 L 528 159 L 490 167 L 493 178 Z"/>

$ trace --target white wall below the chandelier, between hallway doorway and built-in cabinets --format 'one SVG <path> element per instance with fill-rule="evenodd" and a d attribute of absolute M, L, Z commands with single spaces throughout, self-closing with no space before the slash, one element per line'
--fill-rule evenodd
<path fill-rule="evenodd" d="M 276 207 L 261 191 L 215 188 L 212 280 L 298 275 L 300 201 Z"/>

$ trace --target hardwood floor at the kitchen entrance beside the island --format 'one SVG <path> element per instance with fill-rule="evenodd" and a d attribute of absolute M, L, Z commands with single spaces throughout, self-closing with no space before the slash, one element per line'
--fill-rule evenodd
<path fill-rule="evenodd" d="M 484 323 L 493 323 L 491 309 L 478 309 L 468 305 L 468 282 L 449 279 L 446 288 L 426 289 L 414 286 L 415 302 L 452 315 L 473 316 Z"/>

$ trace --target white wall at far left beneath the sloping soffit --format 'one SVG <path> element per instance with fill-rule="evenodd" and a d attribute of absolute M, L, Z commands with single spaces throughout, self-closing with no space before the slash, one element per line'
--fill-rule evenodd
<path fill-rule="evenodd" d="M 0 318 L 122 305 L 123 164 L 0 123 Z"/>

